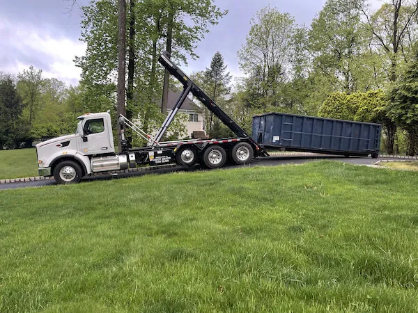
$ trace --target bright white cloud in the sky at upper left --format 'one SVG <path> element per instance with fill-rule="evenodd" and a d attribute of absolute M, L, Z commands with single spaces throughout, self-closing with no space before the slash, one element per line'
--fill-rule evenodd
<path fill-rule="evenodd" d="M 53 37 L 54 27 L 41 27 L 11 22 L 0 16 L 0 70 L 17 74 L 30 65 L 42 70 L 43 77 L 55 77 L 65 83 L 77 84 L 81 70 L 73 62 L 75 56 L 85 54 L 84 42 L 64 35 Z"/>

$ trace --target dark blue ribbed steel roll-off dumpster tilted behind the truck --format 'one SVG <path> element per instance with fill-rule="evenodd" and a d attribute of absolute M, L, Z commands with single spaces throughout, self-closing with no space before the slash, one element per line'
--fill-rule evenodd
<path fill-rule="evenodd" d="M 382 125 L 287 113 L 254 115 L 254 141 L 270 150 L 376 158 Z"/>

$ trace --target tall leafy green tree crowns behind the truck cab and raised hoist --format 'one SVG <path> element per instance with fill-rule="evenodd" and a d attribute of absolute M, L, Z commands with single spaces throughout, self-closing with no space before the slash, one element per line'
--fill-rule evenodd
<path fill-rule="evenodd" d="M 163 71 L 157 66 L 159 51 L 171 46 L 172 58 L 185 61 L 196 57 L 193 50 L 210 24 L 216 24 L 222 12 L 212 0 L 143 0 L 130 1 L 128 41 L 127 114 L 140 115 L 145 131 L 152 131 L 159 117 L 156 106 L 162 88 Z M 76 58 L 82 67 L 86 93 L 84 98 L 95 108 L 114 106 L 117 68 L 117 6 L 115 0 L 92 2 L 83 8 L 82 41 L 86 56 Z M 170 43 L 171 42 L 171 43 Z M 164 45 L 165 44 L 165 45 Z M 140 66 L 134 66 L 134 65 Z M 139 86 L 139 88 L 137 88 Z M 107 100 L 106 100 L 107 99 Z M 92 110 L 93 111 L 93 110 Z M 160 110 L 158 110 L 160 111 Z M 164 109 L 163 109 L 164 111 Z M 164 112 L 165 113 L 165 112 Z"/>

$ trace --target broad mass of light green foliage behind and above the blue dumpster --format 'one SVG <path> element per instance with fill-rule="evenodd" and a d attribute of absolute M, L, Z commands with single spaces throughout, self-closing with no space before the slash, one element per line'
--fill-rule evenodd
<path fill-rule="evenodd" d="M 258 12 L 246 44 L 238 51 L 240 67 L 249 75 L 240 86 L 241 99 L 264 111 L 273 106 L 274 111 L 316 115 L 322 107 L 322 114 L 356 120 L 367 120 L 371 113 L 369 120 L 386 125 L 392 147 L 396 127 L 383 116 L 387 104 L 376 104 L 380 107 L 376 109 L 372 103 L 380 95 L 351 97 L 350 102 L 369 102 L 357 116 L 356 108 L 335 107 L 339 111 L 335 114 L 323 107 L 334 92 L 385 90 L 411 58 L 410 45 L 417 39 L 415 1 L 383 3 L 374 13 L 369 13 L 369 4 L 368 0 L 327 0 L 309 28 L 297 26 L 288 13 L 270 7 Z"/>

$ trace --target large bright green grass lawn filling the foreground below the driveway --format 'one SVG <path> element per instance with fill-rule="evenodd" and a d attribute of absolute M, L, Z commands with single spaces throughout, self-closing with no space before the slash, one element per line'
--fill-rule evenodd
<path fill-rule="evenodd" d="M 417 312 L 417 185 L 320 161 L 0 191 L 0 312 Z"/>

